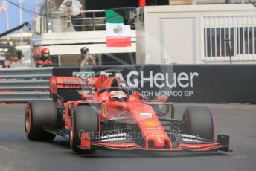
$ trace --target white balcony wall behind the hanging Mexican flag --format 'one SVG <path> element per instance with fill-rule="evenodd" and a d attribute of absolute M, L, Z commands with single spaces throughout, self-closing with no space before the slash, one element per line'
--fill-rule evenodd
<path fill-rule="evenodd" d="M 135 41 L 135 30 L 132 30 L 132 41 Z M 80 54 L 80 48 L 86 46 L 91 54 L 135 52 L 135 42 L 131 47 L 106 47 L 105 31 L 81 31 L 65 33 L 43 33 L 40 45 L 50 49 L 52 55 Z"/>

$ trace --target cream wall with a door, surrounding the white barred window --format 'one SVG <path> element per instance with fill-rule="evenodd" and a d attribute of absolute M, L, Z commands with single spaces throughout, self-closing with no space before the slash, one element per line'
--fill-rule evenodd
<path fill-rule="evenodd" d="M 144 7 L 138 10 L 137 59 L 146 63 L 228 63 L 228 59 L 204 60 L 202 17 L 213 15 L 256 15 L 252 4 L 176 5 Z M 255 54 L 250 61 L 256 63 Z M 139 59 L 141 58 L 141 59 Z"/>

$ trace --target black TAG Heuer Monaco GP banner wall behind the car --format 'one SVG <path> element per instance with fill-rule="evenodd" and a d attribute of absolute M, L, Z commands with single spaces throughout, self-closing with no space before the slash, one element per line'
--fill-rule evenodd
<path fill-rule="evenodd" d="M 173 72 L 171 71 L 173 67 Z M 54 68 L 54 76 L 74 72 L 117 70 L 127 86 L 141 88 L 145 97 L 167 96 L 172 102 L 256 103 L 256 65 L 118 65 Z M 64 92 L 67 94 L 67 91 Z M 61 95 L 61 94 L 60 94 Z"/>

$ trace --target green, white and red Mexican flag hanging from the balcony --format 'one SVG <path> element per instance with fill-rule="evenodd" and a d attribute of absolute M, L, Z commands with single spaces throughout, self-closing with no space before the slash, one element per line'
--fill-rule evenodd
<path fill-rule="evenodd" d="M 131 46 L 131 26 L 124 25 L 124 18 L 114 10 L 105 10 L 106 46 Z"/>

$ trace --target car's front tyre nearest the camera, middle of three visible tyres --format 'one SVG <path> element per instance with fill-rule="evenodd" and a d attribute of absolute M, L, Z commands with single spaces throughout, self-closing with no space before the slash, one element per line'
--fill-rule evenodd
<path fill-rule="evenodd" d="M 71 117 L 70 146 L 74 152 L 94 153 L 95 149 L 80 149 L 81 133 L 96 135 L 99 127 L 99 116 L 92 106 L 77 106 Z"/>

